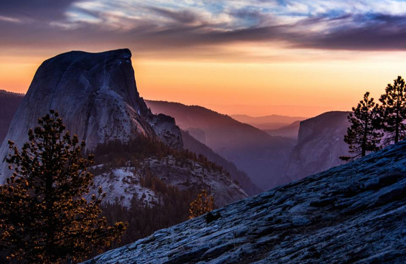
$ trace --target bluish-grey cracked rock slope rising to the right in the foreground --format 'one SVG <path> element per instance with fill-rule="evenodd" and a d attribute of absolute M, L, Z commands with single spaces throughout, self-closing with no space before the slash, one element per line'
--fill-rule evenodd
<path fill-rule="evenodd" d="M 400 142 L 86 263 L 404 263 L 405 153 Z"/>

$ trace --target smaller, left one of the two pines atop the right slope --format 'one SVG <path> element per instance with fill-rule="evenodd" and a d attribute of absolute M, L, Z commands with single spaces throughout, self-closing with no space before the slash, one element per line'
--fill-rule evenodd
<path fill-rule="evenodd" d="M 369 98 L 369 92 L 364 94 L 357 107 L 352 108 L 348 120 L 351 126 L 347 129 L 344 141 L 349 145 L 350 153 L 354 156 L 342 156 L 343 160 L 353 160 L 364 157 L 367 152 L 379 150 L 382 133 L 378 130 L 379 106 L 374 98 Z"/>

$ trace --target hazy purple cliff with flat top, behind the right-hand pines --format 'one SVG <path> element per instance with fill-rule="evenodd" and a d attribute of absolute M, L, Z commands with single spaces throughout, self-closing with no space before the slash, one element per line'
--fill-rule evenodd
<path fill-rule="evenodd" d="M 350 126 L 349 112 L 332 111 L 300 122 L 297 145 L 283 173 L 282 183 L 301 179 L 345 163 L 348 155 L 344 135 Z"/>

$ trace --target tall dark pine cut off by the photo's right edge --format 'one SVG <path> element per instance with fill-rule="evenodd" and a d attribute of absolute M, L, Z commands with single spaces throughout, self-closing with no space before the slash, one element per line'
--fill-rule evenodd
<path fill-rule="evenodd" d="M 406 88 L 402 77 L 398 76 L 393 84 L 386 86 L 379 101 L 382 103 L 382 128 L 387 132 L 384 144 L 403 140 L 406 136 Z"/>

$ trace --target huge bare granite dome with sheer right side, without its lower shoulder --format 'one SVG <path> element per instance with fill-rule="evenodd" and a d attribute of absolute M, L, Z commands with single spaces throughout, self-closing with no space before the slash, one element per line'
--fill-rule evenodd
<path fill-rule="evenodd" d="M 174 148 L 183 146 L 175 120 L 153 115 L 140 97 L 128 49 L 71 51 L 44 61 L 6 137 L 21 146 L 28 129 L 37 126 L 37 119 L 50 109 L 60 113 L 67 130 L 86 141 L 87 149 L 140 134 L 158 137 Z M 0 148 L 0 160 L 8 153 L 6 143 Z M 0 180 L 6 172 L 6 164 L 0 164 Z"/>

